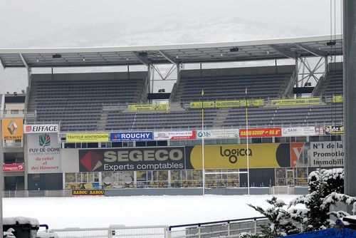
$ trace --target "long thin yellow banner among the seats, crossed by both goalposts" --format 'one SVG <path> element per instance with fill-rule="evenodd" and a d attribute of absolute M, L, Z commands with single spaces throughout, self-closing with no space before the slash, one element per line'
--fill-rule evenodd
<path fill-rule="evenodd" d="M 263 99 L 247 100 L 248 106 L 263 106 Z M 244 107 L 246 106 L 246 100 L 216 100 L 204 102 L 204 108 L 232 108 L 232 107 Z M 201 102 L 191 102 L 190 108 L 201 108 Z"/>

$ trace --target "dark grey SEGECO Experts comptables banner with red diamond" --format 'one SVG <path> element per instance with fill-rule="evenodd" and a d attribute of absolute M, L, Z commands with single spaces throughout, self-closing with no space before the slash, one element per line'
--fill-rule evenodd
<path fill-rule="evenodd" d="M 80 172 L 185 169 L 184 147 L 79 150 Z"/>

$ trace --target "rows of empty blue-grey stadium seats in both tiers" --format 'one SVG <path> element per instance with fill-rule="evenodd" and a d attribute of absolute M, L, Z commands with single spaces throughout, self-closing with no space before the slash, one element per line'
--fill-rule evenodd
<path fill-rule="evenodd" d="M 293 70 L 294 66 L 268 66 L 182 71 L 171 98 L 171 103 L 178 106 L 167 112 L 132 112 L 108 107 L 142 102 L 143 92 L 147 90 L 147 72 L 34 75 L 28 110 L 37 111 L 38 121 L 59 121 L 63 132 L 201 128 L 201 110 L 190 108 L 189 102 L 201 100 L 202 88 L 204 100 L 243 99 L 248 87 L 248 98 L 268 101 L 283 96 Z M 320 92 L 340 92 L 340 88 L 335 90 L 334 87 L 334 81 L 339 81 L 335 75 L 340 74 L 342 71 L 330 71 L 330 80 L 325 81 L 327 86 L 320 87 Z M 320 123 L 342 124 L 342 103 L 248 108 L 248 125 L 252 127 Z M 204 125 L 206 128 L 244 128 L 245 108 L 205 108 Z"/>

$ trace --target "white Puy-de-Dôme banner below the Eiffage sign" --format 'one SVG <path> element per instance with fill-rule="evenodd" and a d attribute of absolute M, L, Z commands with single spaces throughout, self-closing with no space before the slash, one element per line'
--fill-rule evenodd
<path fill-rule="evenodd" d="M 28 134 L 28 173 L 61 172 L 61 145 L 58 135 Z"/>

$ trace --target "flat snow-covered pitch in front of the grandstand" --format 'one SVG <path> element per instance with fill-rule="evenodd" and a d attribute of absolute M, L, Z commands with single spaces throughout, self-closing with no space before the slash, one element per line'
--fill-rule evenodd
<path fill-rule="evenodd" d="M 260 217 L 272 195 L 4 198 L 4 217 L 33 217 L 50 229 L 174 225 Z M 288 204 L 295 195 L 277 195 Z"/>

